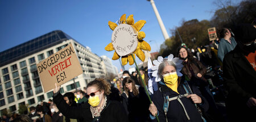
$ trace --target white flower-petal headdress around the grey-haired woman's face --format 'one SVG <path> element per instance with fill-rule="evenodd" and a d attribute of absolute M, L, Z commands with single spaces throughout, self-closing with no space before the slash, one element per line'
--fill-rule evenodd
<path fill-rule="evenodd" d="M 153 73 L 152 73 L 152 76 L 153 77 L 155 77 L 155 81 L 156 82 L 159 82 L 159 81 L 161 81 L 161 77 L 160 77 L 160 75 L 158 74 L 158 67 L 159 67 L 159 65 L 163 62 L 163 57 L 162 56 L 158 56 L 158 60 L 154 60 L 153 61 L 153 64 L 154 64 L 154 66 L 152 66 L 152 68 L 151 68 L 151 70 L 154 70 L 153 71 Z M 182 76 L 182 74 L 180 73 L 180 71 L 181 71 L 181 69 L 183 68 L 183 65 L 182 65 L 182 61 L 183 60 L 180 60 L 179 58 L 174 58 L 174 55 L 173 54 L 170 54 L 169 56 L 168 56 L 168 61 L 172 61 L 172 62 L 174 62 L 174 64 L 176 65 L 176 72 L 177 72 L 177 75 L 179 76 L 179 77 L 181 77 Z"/>

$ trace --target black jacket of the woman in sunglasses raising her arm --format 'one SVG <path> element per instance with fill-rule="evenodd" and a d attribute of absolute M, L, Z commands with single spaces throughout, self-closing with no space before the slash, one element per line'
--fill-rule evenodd
<path fill-rule="evenodd" d="M 69 117 L 71 119 L 84 119 L 84 121 L 88 122 L 97 121 L 96 118 L 92 118 L 92 112 L 90 112 L 90 104 L 88 101 L 81 104 L 79 107 L 69 107 L 63 99 L 63 96 L 59 93 L 56 96 L 53 96 L 53 102 L 56 103 L 57 108 L 59 108 L 60 112 L 63 113 L 65 117 Z M 101 112 L 101 116 L 99 118 L 100 122 L 129 121 L 121 103 L 109 100 L 109 97 L 107 96 L 106 104 L 106 108 Z"/>

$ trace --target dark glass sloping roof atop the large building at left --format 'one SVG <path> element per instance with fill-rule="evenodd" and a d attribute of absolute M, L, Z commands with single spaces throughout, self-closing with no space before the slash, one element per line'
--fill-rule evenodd
<path fill-rule="evenodd" d="M 10 62 L 30 56 L 31 54 L 43 51 L 44 49 L 52 47 L 56 44 L 60 44 L 69 39 L 72 38 L 59 30 L 36 37 L 35 39 L 27 41 L 26 43 L 0 52 L 0 67 L 10 64 Z"/>

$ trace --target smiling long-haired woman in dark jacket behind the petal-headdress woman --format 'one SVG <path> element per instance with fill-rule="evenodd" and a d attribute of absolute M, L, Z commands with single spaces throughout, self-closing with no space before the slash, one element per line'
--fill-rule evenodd
<path fill-rule="evenodd" d="M 220 111 L 218 111 L 212 92 L 209 89 L 209 83 L 207 82 L 207 79 L 204 78 L 207 69 L 200 61 L 192 57 L 192 54 L 187 48 L 179 47 L 177 52 L 178 57 L 183 60 L 182 64 L 184 65 L 181 73 L 184 74 L 185 79 L 189 83 L 199 87 L 201 94 L 207 99 L 210 105 L 209 111 L 207 111 L 209 116 L 211 116 L 212 119 L 216 119 L 216 121 L 223 121 L 224 118 L 220 114 Z"/>

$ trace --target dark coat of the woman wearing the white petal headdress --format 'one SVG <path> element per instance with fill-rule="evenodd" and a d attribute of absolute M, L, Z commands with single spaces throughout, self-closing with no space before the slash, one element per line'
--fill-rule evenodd
<path fill-rule="evenodd" d="M 172 98 L 174 96 L 178 96 L 180 94 L 186 94 L 187 92 L 183 88 L 182 82 L 177 88 L 177 91 L 180 93 L 178 94 L 175 91 L 172 91 L 170 88 L 168 88 L 166 85 L 161 85 L 158 83 L 158 86 L 160 90 L 154 92 L 153 99 L 152 101 L 154 102 L 156 108 L 158 108 L 159 111 L 159 121 L 166 121 L 164 110 L 163 110 L 163 105 L 164 105 L 164 96 L 168 95 L 169 98 Z M 203 111 L 207 111 L 209 108 L 207 100 L 201 95 L 201 92 L 197 87 L 191 86 L 193 94 L 197 94 L 198 96 L 201 97 L 202 103 L 197 104 Z M 184 104 L 184 107 L 188 113 L 188 116 L 190 117 L 190 121 L 202 121 L 200 113 L 197 111 L 197 108 L 195 107 L 195 104 L 190 98 L 181 98 L 181 102 Z M 181 104 L 177 100 L 172 100 L 169 103 L 168 107 L 168 112 L 167 112 L 167 119 L 168 121 L 188 121 L 187 116 L 185 115 L 184 109 L 181 106 Z M 156 119 L 155 119 L 156 121 Z"/>

